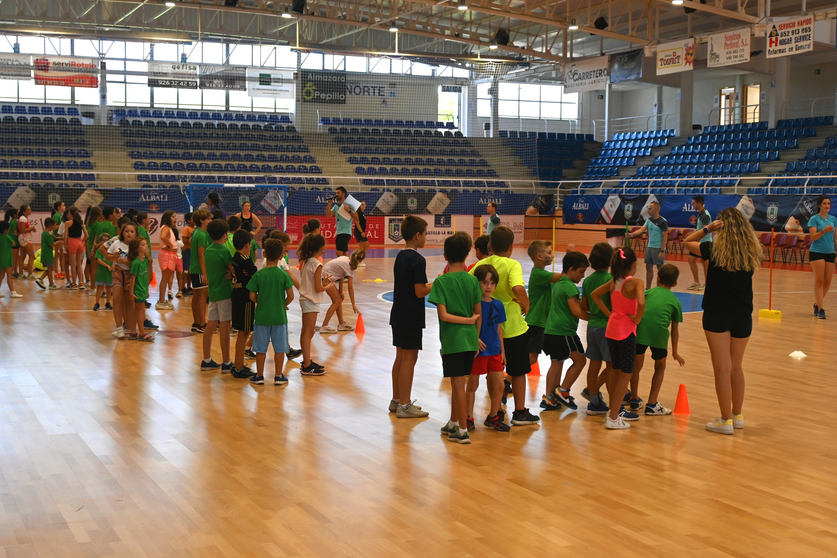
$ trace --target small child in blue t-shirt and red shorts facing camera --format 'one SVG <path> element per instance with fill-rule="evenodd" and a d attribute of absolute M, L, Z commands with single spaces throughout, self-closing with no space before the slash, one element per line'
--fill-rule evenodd
<path fill-rule="evenodd" d="M 503 323 L 506 321 L 506 308 L 499 300 L 491 298 L 497 287 L 500 274 L 493 265 L 483 265 L 474 271 L 474 277 L 480 282 L 482 298 L 482 324 L 480 326 L 480 352 L 474 359 L 471 375 L 468 376 L 468 430 L 474 430 L 474 399 L 480 386 L 480 376 L 486 375 L 491 409 L 485 424 L 489 428 L 508 432 L 511 427 L 505 422 L 505 413 L 500 409 L 503 399 L 503 367 L 506 365 L 506 351 L 503 346 Z"/>

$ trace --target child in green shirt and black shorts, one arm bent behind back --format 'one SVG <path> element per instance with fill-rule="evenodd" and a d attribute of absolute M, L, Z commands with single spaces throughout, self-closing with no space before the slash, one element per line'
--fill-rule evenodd
<path fill-rule="evenodd" d="M 479 351 L 477 324 L 482 313 L 480 282 L 465 271 L 465 258 L 470 251 L 468 233 L 454 233 L 445 239 L 448 273 L 436 279 L 428 299 L 439 314 L 442 371 L 445 378 L 450 378 L 451 387 L 450 420 L 442 427 L 442 433 L 448 435 L 448 441 L 458 444 L 471 443 L 465 386 Z"/>

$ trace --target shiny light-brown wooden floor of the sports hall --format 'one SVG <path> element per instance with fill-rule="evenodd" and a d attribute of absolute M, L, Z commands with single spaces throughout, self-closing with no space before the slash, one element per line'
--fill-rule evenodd
<path fill-rule="evenodd" d="M 426 253 L 435 277 L 440 251 Z M 391 280 L 391 258 L 358 279 Z M 26 298 L 0 300 L 0 545 L 10 558 L 834 556 L 837 312 L 810 315 L 811 279 L 775 273 L 784 316 L 755 322 L 743 432 L 704 431 L 718 409 L 692 313 L 687 364 L 669 368 L 661 398 L 673 406 L 684 383 L 690 417 L 608 432 L 582 404 L 509 434 L 480 425 L 470 446 L 439 435 L 449 389 L 430 311 L 413 391 L 430 417 L 386 411 L 394 351 L 378 295 L 391 282 L 358 282 L 365 336 L 317 335 L 328 373 L 290 364 L 284 389 L 201 372 L 189 299 L 149 311 L 162 331 L 146 345 L 112 339 L 86 293 L 21 283 Z M 765 308 L 767 271 L 755 281 Z M 298 347 L 296 303 L 291 331 Z M 529 378 L 533 410 L 542 384 Z"/>

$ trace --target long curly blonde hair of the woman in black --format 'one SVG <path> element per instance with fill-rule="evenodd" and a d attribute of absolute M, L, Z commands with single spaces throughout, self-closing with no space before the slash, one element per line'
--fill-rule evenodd
<path fill-rule="evenodd" d="M 726 271 L 755 271 L 763 249 L 753 225 L 740 211 L 728 207 L 718 214 L 724 226 L 713 234 L 712 259 Z"/>

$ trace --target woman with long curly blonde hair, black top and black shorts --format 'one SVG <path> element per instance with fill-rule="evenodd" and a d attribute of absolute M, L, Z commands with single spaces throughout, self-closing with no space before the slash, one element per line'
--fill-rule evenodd
<path fill-rule="evenodd" d="M 714 233 L 712 242 L 701 243 Z M 734 207 L 695 231 L 686 248 L 709 262 L 703 294 L 703 332 L 715 370 L 721 416 L 706 429 L 732 434 L 744 428 L 744 351 L 753 329 L 753 273 L 761 266 L 762 247 L 750 222 Z"/>

